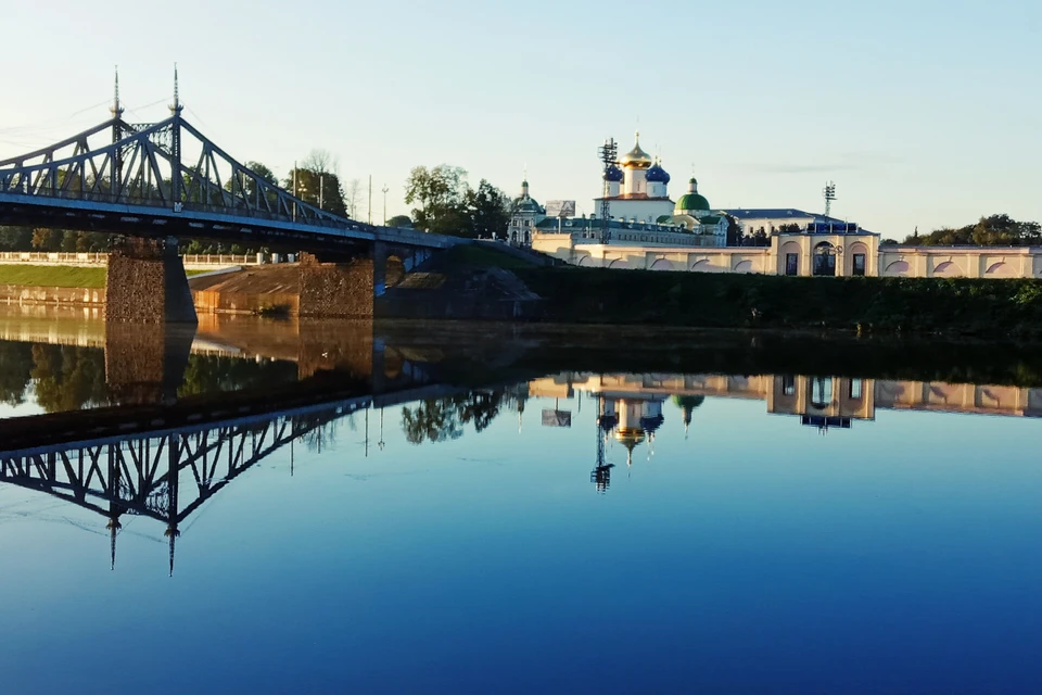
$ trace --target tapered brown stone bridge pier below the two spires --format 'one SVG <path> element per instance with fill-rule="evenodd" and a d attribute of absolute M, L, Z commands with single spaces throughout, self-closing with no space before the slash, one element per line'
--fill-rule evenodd
<path fill-rule="evenodd" d="M 105 320 L 199 323 L 176 239 L 128 238 L 109 255 Z"/>

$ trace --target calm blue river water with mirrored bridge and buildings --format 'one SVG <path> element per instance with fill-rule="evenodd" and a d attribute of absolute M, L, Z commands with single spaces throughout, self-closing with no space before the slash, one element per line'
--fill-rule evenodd
<path fill-rule="evenodd" d="M 425 333 L 330 405 L 305 333 L 201 327 L 171 387 L 0 318 L 3 692 L 1042 692 L 1042 389 Z M 84 419 L 217 392 L 264 407 L 178 440 L 173 505 L 163 434 Z"/>

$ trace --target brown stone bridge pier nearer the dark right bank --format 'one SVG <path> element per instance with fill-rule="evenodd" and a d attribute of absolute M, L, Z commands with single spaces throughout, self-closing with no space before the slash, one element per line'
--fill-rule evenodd
<path fill-rule="evenodd" d="M 372 318 L 373 300 L 386 285 L 386 260 L 381 243 L 353 258 L 302 253 L 300 315 Z"/>

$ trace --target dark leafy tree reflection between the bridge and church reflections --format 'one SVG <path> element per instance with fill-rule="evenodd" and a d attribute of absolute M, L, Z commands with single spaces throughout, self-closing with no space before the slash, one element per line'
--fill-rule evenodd
<path fill-rule="evenodd" d="M 402 429 L 412 444 L 459 439 L 463 426 L 481 432 L 499 415 L 504 391 L 471 391 L 465 395 L 428 399 L 415 407 L 402 408 Z"/>

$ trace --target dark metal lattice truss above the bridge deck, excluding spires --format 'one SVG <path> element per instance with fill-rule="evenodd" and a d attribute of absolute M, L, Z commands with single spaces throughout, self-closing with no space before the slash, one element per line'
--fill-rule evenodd
<path fill-rule="evenodd" d="M 179 113 L 150 125 L 115 117 L 48 148 L 0 161 L 3 193 L 360 227 L 243 166 Z"/>

